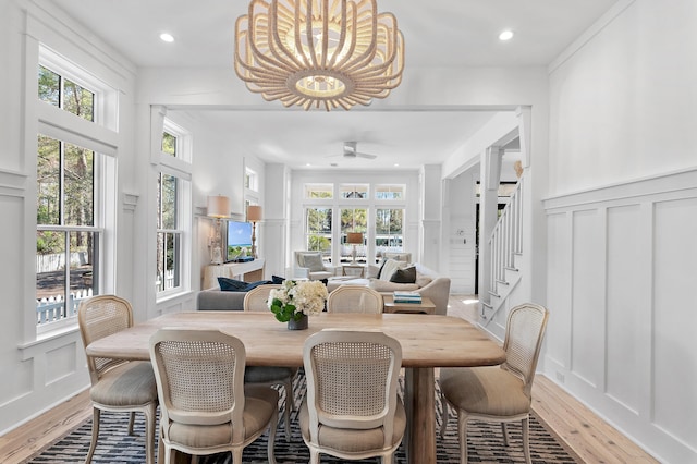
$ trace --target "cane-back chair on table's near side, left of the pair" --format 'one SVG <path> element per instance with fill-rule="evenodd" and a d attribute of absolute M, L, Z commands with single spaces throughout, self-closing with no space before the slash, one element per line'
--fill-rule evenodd
<path fill-rule="evenodd" d="M 160 329 L 150 338 L 150 359 L 160 396 L 164 463 L 173 451 L 207 455 L 229 451 L 242 463 L 243 449 L 269 429 L 273 448 L 279 394 L 245 386 L 246 352 L 240 339 L 209 329 Z"/>

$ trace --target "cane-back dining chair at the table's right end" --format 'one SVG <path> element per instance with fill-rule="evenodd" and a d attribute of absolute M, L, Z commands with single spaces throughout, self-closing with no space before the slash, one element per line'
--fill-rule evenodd
<path fill-rule="evenodd" d="M 467 462 L 467 420 L 500 422 L 503 442 L 509 445 L 506 423 L 521 422 L 523 452 L 530 463 L 528 440 L 533 380 L 549 312 L 535 304 L 523 304 L 509 313 L 503 350 L 506 361 L 500 366 L 449 367 L 440 370 L 443 420 L 448 426 L 448 404 L 457 411 L 461 462 Z"/>

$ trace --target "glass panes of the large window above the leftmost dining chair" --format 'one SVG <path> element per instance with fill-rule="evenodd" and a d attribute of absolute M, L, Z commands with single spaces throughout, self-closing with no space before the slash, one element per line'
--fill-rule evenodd
<path fill-rule="evenodd" d="M 90 122 L 100 105 L 98 93 L 77 81 L 57 57 L 40 53 L 38 105 L 48 103 Z M 46 62 L 44 62 L 46 61 Z M 49 64 L 50 63 L 50 64 Z M 73 66 L 74 68 L 74 66 Z M 46 115 L 48 114 L 48 115 Z M 74 129 L 46 112 L 39 121 L 36 164 L 36 317 L 39 331 L 74 323 L 81 300 L 100 290 L 103 213 L 103 155 L 68 142 Z M 72 124 L 69 121 L 65 124 Z M 80 126 L 80 125 L 77 125 Z M 47 135 L 46 132 L 50 132 Z M 94 135 L 86 130 L 86 134 Z"/>

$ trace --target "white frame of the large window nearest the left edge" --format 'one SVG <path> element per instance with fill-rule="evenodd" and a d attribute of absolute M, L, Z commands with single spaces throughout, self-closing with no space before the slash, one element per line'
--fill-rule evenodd
<path fill-rule="evenodd" d="M 39 66 L 44 66 L 49 71 L 60 76 L 61 97 L 59 98 L 59 106 L 51 102 L 44 101 L 38 95 L 38 78 Z M 62 171 L 64 166 L 65 145 L 71 144 L 80 148 L 90 150 L 93 152 L 93 223 L 91 225 L 66 225 L 62 219 L 58 224 L 40 224 L 36 217 L 38 212 L 38 188 L 34 195 L 34 215 L 35 215 L 35 230 L 36 233 L 41 231 L 56 231 L 65 234 L 64 259 L 70 262 L 71 249 L 70 249 L 70 234 L 73 232 L 88 232 L 93 233 L 93 283 L 91 294 L 101 294 L 111 291 L 114 288 L 113 276 L 115 270 L 113 269 L 113 257 L 115 256 L 115 241 L 110 237 L 108 233 L 115 227 L 115 206 L 113 202 L 109 202 L 109 198 L 115 197 L 115 162 L 112 158 L 115 155 L 115 148 L 113 141 L 117 139 L 117 133 L 112 131 L 115 126 L 114 122 L 118 119 L 118 90 L 99 80 L 90 71 L 80 68 L 68 58 L 58 54 L 42 44 L 38 44 L 38 56 L 36 60 L 36 73 L 33 74 L 33 78 L 36 80 L 36 87 L 30 86 L 34 89 L 33 95 L 27 95 L 27 102 L 34 105 L 36 112 L 36 135 L 35 145 L 33 145 L 35 155 L 34 170 L 35 182 L 38 182 L 38 136 L 44 135 L 59 142 L 60 151 L 60 167 Z M 63 107 L 63 86 L 65 81 L 89 90 L 93 94 L 93 120 L 88 120 L 72 113 Z M 50 108 L 47 108 L 50 107 Z M 62 174 L 59 173 L 62 178 Z M 111 179 L 111 180 L 110 180 Z M 60 182 L 62 184 L 62 181 Z M 62 193 L 63 185 L 60 186 L 61 204 L 63 203 Z M 61 211 L 61 218 L 64 211 Z M 35 239 L 36 240 L 36 239 Z M 34 251 L 34 256 L 38 256 L 37 251 Z M 71 292 L 70 281 L 70 265 L 66 266 L 64 279 L 63 279 L 63 304 L 69 304 L 70 301 L 65 301 Z M 36 267 L 33 270 L 35 274 L 35 281 L 38 282 L 38 272 Z M 56 332 L 72 329 L 77 326 L 76 306 L 73 309 L 69 309 L 64 306 L 63 317 L 58 320 L 39 323 L 38 320 L 38 298 L 36 298 L 37 284 L 35 284 L 34 297 L 35 304 L 33 305 L 33 326 L 34 333 L 37 339 L 51 337 Z M 96 290 L 96 291 L 95 291 Z M 28 321 L 29 319 L 27 319 Z"/>

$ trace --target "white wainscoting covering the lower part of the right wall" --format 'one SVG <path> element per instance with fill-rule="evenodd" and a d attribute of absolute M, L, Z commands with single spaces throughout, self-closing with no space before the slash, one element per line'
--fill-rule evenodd
<path fill-rule="evenodd" d="M 659 461 L 697 463 L 697 169 L 545 209 L 545 373 Z"/>

